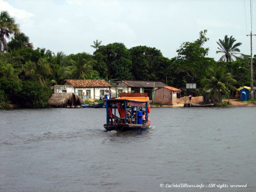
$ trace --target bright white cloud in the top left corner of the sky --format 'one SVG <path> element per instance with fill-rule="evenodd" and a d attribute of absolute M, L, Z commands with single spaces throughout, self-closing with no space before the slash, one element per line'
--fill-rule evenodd
<path fill-rule="evenodd" d="M 21 20 L 22 22 L 29 21 L 32 17 L 35 17 L 34 14 L 27 12 L 22 9 L 16 9 L 12 5 L 8 4 L 7 2 L 0 0 L 0 10 L 1 11 L 8 11 L 11 16 Z"/>

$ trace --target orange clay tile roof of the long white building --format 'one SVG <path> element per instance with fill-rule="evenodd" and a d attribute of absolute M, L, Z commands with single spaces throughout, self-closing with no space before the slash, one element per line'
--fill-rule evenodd
<path fill-rule="evenodd" d="M 111 87 L 103 79 L 65 79 L 73 87 Z"/>

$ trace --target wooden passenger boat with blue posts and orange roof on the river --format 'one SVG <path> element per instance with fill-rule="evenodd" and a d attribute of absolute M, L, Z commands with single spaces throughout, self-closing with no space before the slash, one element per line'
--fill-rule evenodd
<path fill-rule="evenodd" d="M 107 131 L 147 130 L 151 123 L 148 117 L 148 113 L 150 113 L 148 100 L 147 93 L 120 93 L 120 97 L 106 99 L 107 122 L 103 125 L 104 128 Z M 111 116 L 113 122 L 110 121 Z M 145 120 L 142 120 L 143 116 Z"/>

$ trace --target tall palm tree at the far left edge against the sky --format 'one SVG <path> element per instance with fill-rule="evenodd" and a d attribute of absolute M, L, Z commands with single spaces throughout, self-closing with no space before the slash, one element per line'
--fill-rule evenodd
<path fill-rule="evenodd" d="M 13 33 L 20 31 L 19 25 L 15 23 L 15 19 L 9 15 L 7 11 L 0 13 L 0 52 L 2 52 L 2 45 L 7 46 L 4 36 L 8 39 Z"/>

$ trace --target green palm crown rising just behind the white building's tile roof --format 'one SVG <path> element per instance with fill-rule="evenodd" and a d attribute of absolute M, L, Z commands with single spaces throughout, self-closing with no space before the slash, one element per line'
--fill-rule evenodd
<path fill-rule="evenodd" d="M 88 58 L 87 56 L 84 57 L 83 55 L 80 55 L 77 61 L 70 60 L 70 62 L 72 64 L 70 71 L 71 79 L 88 79 L 90 78 L 91 73 L 94 75 L 98 74 L 98 71 L 92 69 L 92 66 L 96 61 L 90 59 L 89 55 Z"/>

